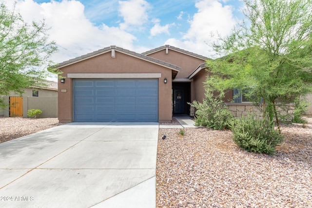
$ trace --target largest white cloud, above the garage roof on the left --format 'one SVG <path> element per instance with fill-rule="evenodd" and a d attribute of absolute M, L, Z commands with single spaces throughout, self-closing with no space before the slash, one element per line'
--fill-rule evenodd
<path fill-rule="evenodd" d="M 118 27 L 105 24 L 95 26 L 85 17 L 84 6 L 78 0 L 36 3 L 20 0 L 16 9 L 26 21 L 42 20 L 49 30 L 49 36 L 59 45 L 59 52 L 53 56 L 55 62 L 78 57 L 92 51 L 117 45 L 134 50 L 137 38 Z"/>

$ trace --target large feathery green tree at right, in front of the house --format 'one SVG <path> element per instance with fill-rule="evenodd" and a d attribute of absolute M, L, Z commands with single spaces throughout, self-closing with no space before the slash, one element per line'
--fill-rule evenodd
<path fill-rule="evenodd" d="M 239 89 L 254 102 L 263 99 L 265 113 L 278 124 L 277 102 L 312 91 L 312 1 L 244 2 L 245 20 L 214 43 L 221 58 L 207 60 L 214 75 L 206 84 L 219 91 Z"/>

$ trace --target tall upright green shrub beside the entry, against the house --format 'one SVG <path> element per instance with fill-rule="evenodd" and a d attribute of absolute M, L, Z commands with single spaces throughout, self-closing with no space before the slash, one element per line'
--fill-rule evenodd
<path fill-rule="evenodd" d="M 224 93 L 214 95 L 208 89 L 202 103 L 193 101 L 191 104 L 196 109 L 195 125 L 206 126 L 215 130 L 229 129 L 229 122 L 233 119 L 233 115 L 222 101 Z"/>

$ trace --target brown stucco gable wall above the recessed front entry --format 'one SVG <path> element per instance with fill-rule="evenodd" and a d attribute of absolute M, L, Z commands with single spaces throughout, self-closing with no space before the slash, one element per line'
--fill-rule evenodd
<path fill-rule="evenodd" d="M 159 60 L 166 61 L 171 64 L 175 64 L 176 66 L 181 67 L 180 71 L 176 75 L 177 78 L 187 78 L 195 69 L 205 62 L 203 59 L 199 59 L 196 57 L 191 57 L 186 54 L 182 54 L 173 50 L 168 50 L 168 54 L 166 55 L 166 50 L 161 50 L 155 52 L 153 54 L 148 55 L 149 57 L 157 58 Z"/>

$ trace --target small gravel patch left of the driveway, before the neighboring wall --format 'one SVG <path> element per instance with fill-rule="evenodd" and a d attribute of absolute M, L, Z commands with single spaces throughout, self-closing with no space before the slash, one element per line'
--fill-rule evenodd
<path fill-rule="evenodd" d="M 0 143 L 59 125 L 58 118 L 0 117 Z"/>

